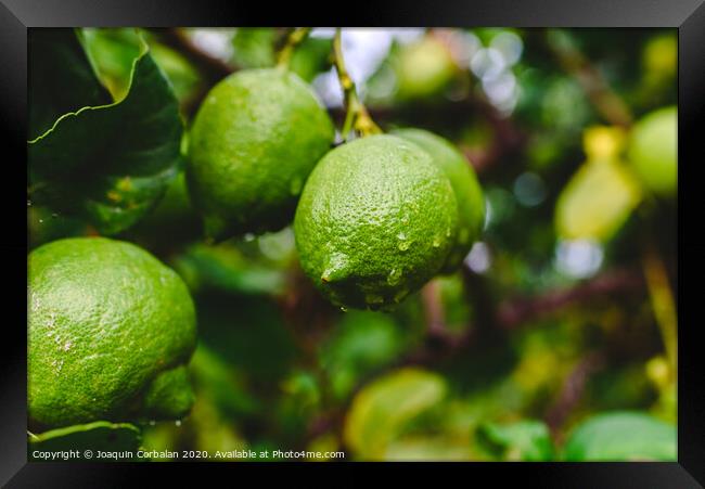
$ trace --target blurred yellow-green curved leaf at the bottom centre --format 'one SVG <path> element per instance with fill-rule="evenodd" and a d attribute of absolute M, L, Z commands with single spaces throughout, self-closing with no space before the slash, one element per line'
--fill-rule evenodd
<path fill-rule="evenodd" d="M 352 400 L 345 440 L 362 459 L 380 460 L 414 417 L 446 395 L 443 377 L 421 369 L 398 370 L 366 386 Z"/>

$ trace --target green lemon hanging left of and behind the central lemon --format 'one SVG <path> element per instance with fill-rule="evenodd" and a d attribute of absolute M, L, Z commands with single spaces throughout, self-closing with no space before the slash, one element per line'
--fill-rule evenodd
<path fill-rule="evenodd" d="M 225 239 L 289 224 L 334 136 L 316 94 L 291 72 L 247 69 L 216 85 L 189 141 L 188 183 L 206 234 Z"/>

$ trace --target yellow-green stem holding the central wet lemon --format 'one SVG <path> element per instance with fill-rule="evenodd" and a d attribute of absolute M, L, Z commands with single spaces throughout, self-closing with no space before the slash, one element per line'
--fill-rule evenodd
<path fill-rule="evenodd" d="M 355 81 L 352 81 L 350 74 L 345 67 L 342 29 L 339 27 L 335 29 L 335 36 L 333 37 L 333 63 L 335 64 L 335 70 L 337 72 L 337 79 L 341 82 L 341 89 L 343 90 L 346 111 L 345 123 L 343 123 L 343 139 L 347 141 L 350 130 L 355 130 L 363 137 L 381 133 L 382 129 L 374 124 L 368 110 L 362 102 L 360 102 L 357 88 L 355 87 Z"/>

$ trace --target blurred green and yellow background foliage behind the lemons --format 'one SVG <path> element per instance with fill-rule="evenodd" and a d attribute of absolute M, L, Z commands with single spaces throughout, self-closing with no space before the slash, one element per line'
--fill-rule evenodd
<path fill-rule="evenodd" d="M 126 96 L 136 29 L 82 34 L 100 80 Z M 207 90 L 273 65 L 287 29 L 141 34 L 185 146 Z M 313 29 L 292 68 L 339 127 L 332 35 Z M 676 30 L 346 28 L 343 47 L 384 129 L 430 129 L 467 156 L 487 198 L 482 242 L 393 313 L 341 311 L 303 275 L 290 228 L 205 243 L 181 173 L 117 235 L 174 267 L 198 311 L 194 409 L 144 426 L 142 445 L 676 460 L 676 166 L 632 160 L 638 121 L 675 115 Z M 675 129 L 649 129 L 646 152 Z M 97 232 L 31 202 L 28 219 L 31 247 Z"/>

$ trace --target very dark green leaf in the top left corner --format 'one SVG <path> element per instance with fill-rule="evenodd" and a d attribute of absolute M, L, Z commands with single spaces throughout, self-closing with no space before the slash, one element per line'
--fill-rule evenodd
<path fill-rule="evenodd" d="M 29 29 L 29 137 L 49 130 L 59 117 L 87 105 L 111 102 L 108 91 L 75 29 Z"/>

